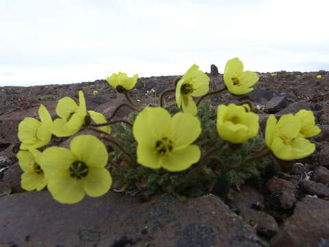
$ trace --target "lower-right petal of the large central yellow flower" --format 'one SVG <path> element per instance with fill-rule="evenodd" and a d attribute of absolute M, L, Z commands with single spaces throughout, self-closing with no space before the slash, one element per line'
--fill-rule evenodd
<path fill-rule="evenodd" d="M 180 172 L 188 169 L 199 161 L 201 152 L 197 145 L 189 145 L 182 150 L 171 152 L 167 157 L 162 158 L 161 167 L 169 172 Z"/>

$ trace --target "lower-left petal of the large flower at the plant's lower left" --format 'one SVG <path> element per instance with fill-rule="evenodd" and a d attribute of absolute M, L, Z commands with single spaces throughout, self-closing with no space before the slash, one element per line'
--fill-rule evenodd
<path fill-rule="evenodd" d="M 73 204 L 80 202 L 86 194 L 82 180 L 72 178 L 69 169 L 52 174 L 49 177 L 47 187 L 51 196 L 60 203 Z"/>

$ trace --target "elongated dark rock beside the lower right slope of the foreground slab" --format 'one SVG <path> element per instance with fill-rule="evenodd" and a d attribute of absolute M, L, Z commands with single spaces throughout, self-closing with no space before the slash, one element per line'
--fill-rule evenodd
<path fill-rule="evenodd" d="M 250 225 L 256 226 L 257 232 L 261 235 L 273 237 L 279 231 L 278 223 L 276 223 L 276 220 L 267 213 L 244 208 L 239 210 L 239 214 Z"/>

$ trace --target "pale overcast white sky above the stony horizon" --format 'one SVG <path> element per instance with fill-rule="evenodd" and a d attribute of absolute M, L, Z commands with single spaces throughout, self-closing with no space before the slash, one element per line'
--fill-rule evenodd
<path fill-rule="evenodd" d="M 0 0 L 0 86 L 329 70 L 328 0 Z"/>

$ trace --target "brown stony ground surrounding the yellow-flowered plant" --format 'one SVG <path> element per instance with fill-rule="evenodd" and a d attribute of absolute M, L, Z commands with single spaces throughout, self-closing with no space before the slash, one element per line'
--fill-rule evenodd
<path fill-rule="evenodd" d="M 223 84 L 222 75 L 208 75 L 211 89 Z M 239 99 L 224 93 L 212 98 L 212 104 L 251 99 L 263 130 L 271 113 L 313 110 L 321 128 L 311 140 L 316 152 L 283 164 L 262 185 L 250 180 L 233 188 L 230 199 L 209 195 L 187 203 L 167 195 L 141 202 L 110 192 L 62 205 L 48 191 L 23 191 L 15 152 L 17 126 L 24 117 L 37 117 L 40 104 L 55 117 L 56 100 L 77 99 L 79 90 L 88 110 L 107 117 L 123 99 L 105 80 L 0 87 L 0 246 L 329 246 L 329 72 L 258 75 L 252 93 Z M 139 102 L 158 104 L 158 95 L 174 78 L 140 78 L 132 95 Z"/>

